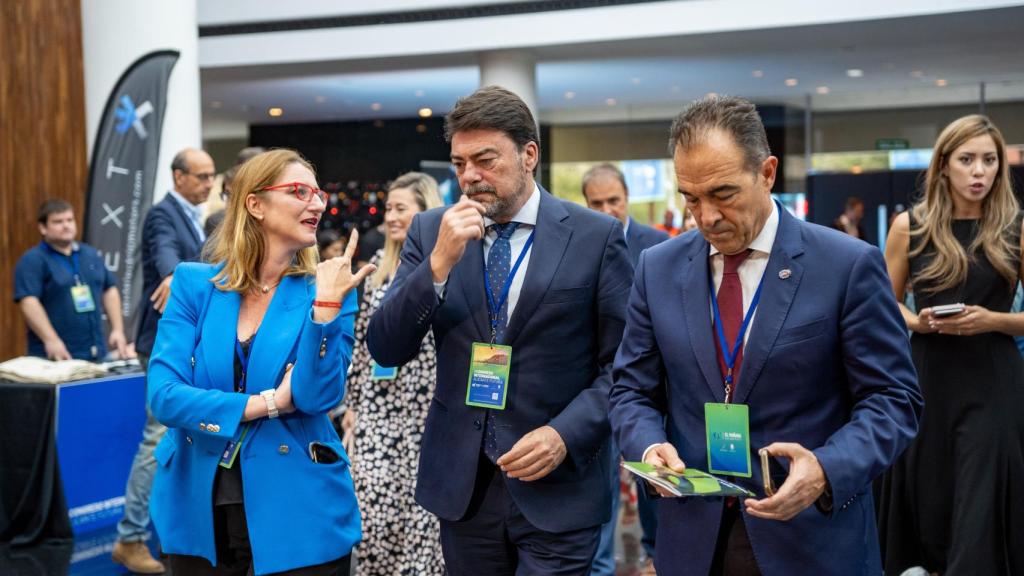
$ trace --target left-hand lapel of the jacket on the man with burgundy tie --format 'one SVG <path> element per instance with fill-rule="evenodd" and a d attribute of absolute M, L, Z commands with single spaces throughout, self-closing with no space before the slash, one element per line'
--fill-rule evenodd
<path fill-rule="evenodd" d="M 682 286 L 683 310 L 686 315 L 686 333 L 689 336 L 693 356 L 697 359 L 705 383 L 716 402 L 725 401 L 725 384 L 722 370 L 718 367 L 718 353 L 713 340 L 714 327 L 711 322 L 711 293 L 708 292 L 708 241 L 698 238 L 676 278 Z"/>

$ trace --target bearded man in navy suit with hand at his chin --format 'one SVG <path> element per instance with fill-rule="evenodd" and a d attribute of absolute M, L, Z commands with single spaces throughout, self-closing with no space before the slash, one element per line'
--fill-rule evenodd
<path fill-rule="evenodd" d="M 428 330 L 437 342 L 416 499 L 440 518 L 450 574 L 586 575 L 611 503 L 623 228 L 537 184 L 537 123 L 512 92 L 461 98 L 445 135 L 465 196 L 413 220 L 368 335 L 382 366 L 412 360 Z M 511 356 L 507 377 L 470 369 L 493 351 Z"/>

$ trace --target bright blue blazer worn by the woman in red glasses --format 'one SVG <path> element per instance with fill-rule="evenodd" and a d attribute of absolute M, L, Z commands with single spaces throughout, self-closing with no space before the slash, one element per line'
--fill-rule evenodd
<path fill-rule="evenodd" d="M 213 481 L 239 429 L 249 395 L 275 387 L 294 363 L 296 411 L 251 422 L 239 458 L 256 574 L 312 566 L 347 554 L 359 540 L 349 460 L 327 412 L 344 395 L 351 360 L 355 292 L 327 324 L 313 322 L 310 279 L 282 280 L 253 342 L 248 394 L 233 392 L 242 301 L 213 288 L 219 266 L 184 263 L 174 273 L 146 374 L 153 415 L 168 426 L 157 446 L 150 506 L 165 552 L 216 563 Z M 211 429 L 212 427 L 212 429 Z M 313 462 L 310 442 L 341 459 Z"/>

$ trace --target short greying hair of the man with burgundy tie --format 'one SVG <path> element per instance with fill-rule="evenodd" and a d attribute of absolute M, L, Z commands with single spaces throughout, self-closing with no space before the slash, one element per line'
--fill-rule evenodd
<path fill-rule="evenodd" d="M 703 141 L 715 130 L 732 136 L 743 151 L 746 166 L 758 170 L 771 156 L 768 134 L 754 102 L 736 96 L 705 96 L 687 106 L 672 122 L 669 154 L 676 148 L 688 150 Z"/>

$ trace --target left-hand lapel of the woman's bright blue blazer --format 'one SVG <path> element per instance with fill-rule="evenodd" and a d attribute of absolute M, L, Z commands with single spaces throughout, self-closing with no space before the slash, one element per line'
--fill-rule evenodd
<path fill-rule="evenodd" d="M 224 392 L 234 389 L 234 339 L 241 305 L 242 296 L 238 292 L 214 288 L 202 326 L 200 346 L 210 382 Z"/>

